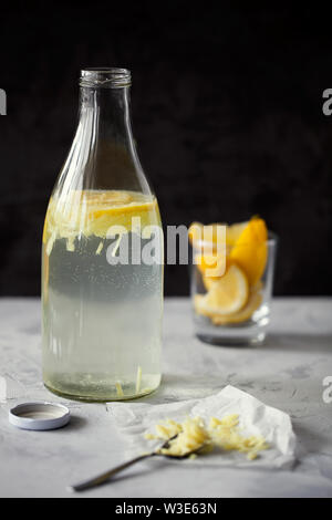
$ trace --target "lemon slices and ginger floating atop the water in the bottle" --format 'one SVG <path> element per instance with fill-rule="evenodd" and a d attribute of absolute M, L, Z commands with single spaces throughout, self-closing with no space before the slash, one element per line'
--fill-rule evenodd
<path fill-rule="evenodd" d="M 147 226 L 160 226 L 156 198 L 120 190 L 71 190 L 54 195 L 50 199 L 44 223 L 45 252 L 48 256 L 51 253 L 58 238 L 66 239 L 69 251 L 74 251 L 77 236 L 95 236 L 103 240 L 113 226 L 118 227 L 117 235 L 138 232 L 139 229 L 144 231 Z"/>

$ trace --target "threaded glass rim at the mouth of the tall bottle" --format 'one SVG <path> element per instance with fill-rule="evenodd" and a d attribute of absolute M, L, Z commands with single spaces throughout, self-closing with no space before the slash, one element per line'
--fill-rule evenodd
<path fill-rule="evenodd" d="M 80 86 L 90 89 L 121 89 L 131 83 L 131 71 L 114 66 L 86 67 L 80 76 Z"/>

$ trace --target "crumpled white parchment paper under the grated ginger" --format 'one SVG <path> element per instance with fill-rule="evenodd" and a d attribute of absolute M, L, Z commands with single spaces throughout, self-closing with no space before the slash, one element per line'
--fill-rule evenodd
<path fill-rule="evenodd" d="M 295 460 L 295 435 L 289 415 L 267 406 L 246 392 L 226 386 L 216 395 L 201 399 L 149 405 L 146 403 L 110 403 L 115 425 L 127 444 L 127 456 L 135 457 L 160 446 L 160 440 L 146 440 L 146 433 L 155 434 L 155 425 L 170 418 L 183 422 L 188 415 L 200 416 L 207 423 L 211 416 L 222 418 L 238 414 L 245 436 L 263 436 L 270 448 L 259 453 L 255 460 L 246 454 L 216 450 L 194 460 L 173 460 L 173 464 L 220 465 L 232 467 L 289 468 Z M 170 459 L 167 459 L 170 460 Z"/>

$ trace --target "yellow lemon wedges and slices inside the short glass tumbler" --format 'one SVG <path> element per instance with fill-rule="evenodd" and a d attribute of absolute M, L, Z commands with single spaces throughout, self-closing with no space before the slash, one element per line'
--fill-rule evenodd
<path fill-rule="evenodd" d="M 247 222 L 225 225 L 226 254 L 221 259 L 216 248 L 217 226 L 194 222 L 189 228 L 194 249 L 201 241 L 210 243 L 208 252 L 195 256 L 207 293 L 194 297 L 194 308 L 215 325 L 241 323 L 249 320 L 262 302 L 261 278 L 268 259 L 268 230 L 264 220 L 257 217 Z M 224 270 L 215 269 L 210 275 L 208 269 L 216 266 Z"/>

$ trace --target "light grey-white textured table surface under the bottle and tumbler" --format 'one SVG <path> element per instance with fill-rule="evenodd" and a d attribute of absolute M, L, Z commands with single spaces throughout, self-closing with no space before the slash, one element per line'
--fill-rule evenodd
<path fill-rule="evenodd" d="M 74 483 L 124 460 L 112 406 L 68 402 L 41 382 L 40 301 L 0 300 L 0 496 L 75 497 Z M 332 497 L 332 299 L 276 299 L 270 335 L 258 349 L 200 343 L 188 299 L 166 299 L 164 377 L 144 402 L 207 396 L 231 384 L 291 415 L 302 450 L 291 471 L 181 467 L 151 460 L 84 497 Z M 4 383 L 6 381 L 6 383 Z M 71 423 L 27 431 L 8 423 L 24 401 L 52 399 L 71 408 Z"/>

